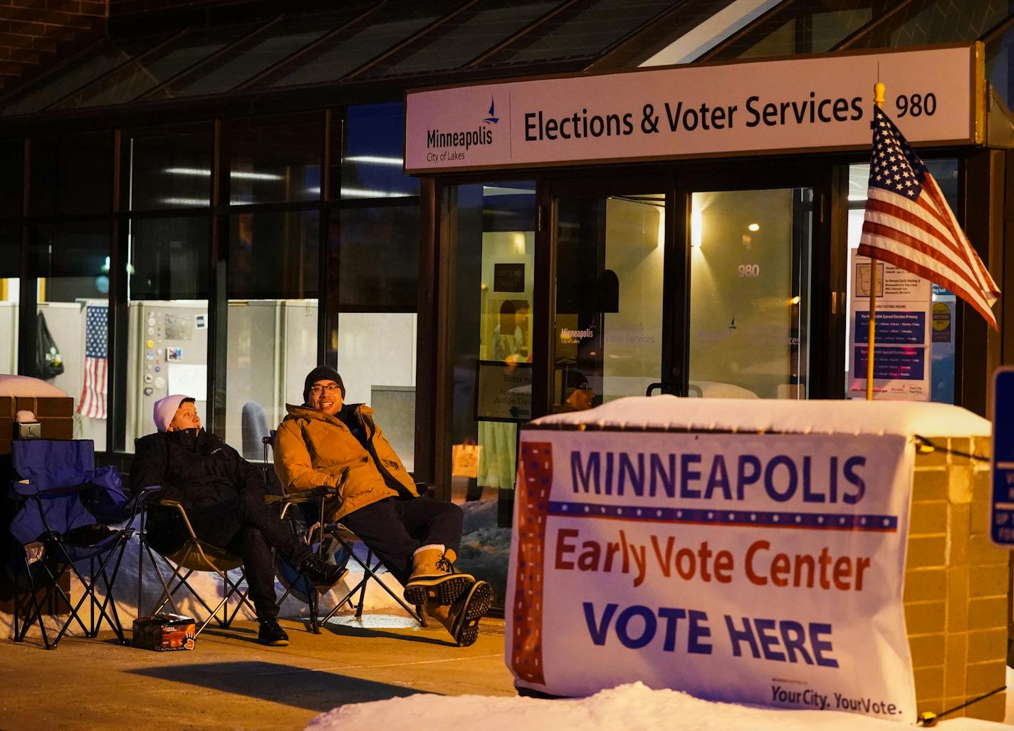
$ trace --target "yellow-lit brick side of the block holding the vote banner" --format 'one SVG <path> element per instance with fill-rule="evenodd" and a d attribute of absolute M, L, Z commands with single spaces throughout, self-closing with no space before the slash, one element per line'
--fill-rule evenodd
<path fill-rule="evenodd" d="M 989 457 L 989 439 L 933 438 Z M 990 464 L 917 454 L 904 612 L 919 712 L 939 713 L 1004 685 L 1009 552 L 990 541 Z M 955 716 L 1002 721 L 1003 692 Z"/>

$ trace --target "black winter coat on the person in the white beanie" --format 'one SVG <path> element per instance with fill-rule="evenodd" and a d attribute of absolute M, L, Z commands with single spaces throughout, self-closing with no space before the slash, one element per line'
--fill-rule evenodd
<path fill-rule="evenodd" d="M 256 491 L 264 495 L 264 474 L 239 453 L 204 429 L 158 432 L 135 443 L 130 489 L 158 485 L 161 500 L 177 500 L 185 508 L 214 505 Z"/>

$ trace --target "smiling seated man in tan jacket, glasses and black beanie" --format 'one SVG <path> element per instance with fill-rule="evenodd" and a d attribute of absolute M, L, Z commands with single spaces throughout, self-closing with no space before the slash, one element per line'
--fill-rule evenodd
<path fill-rule="evenodd" d="M 338 488 L 328 518 L 354 531 L 405 587 L 405 598 L 425 606 L 454 641 L 472 645 L 493 588 L 452 573 L 461 542 L 461 509 L 419 497 L 415 483 L 365 404 L 345 404 L 342 376 L 318 366 L 306 376 L 303 406 L 275 437 L 275 471 L 287 491 Z"/>

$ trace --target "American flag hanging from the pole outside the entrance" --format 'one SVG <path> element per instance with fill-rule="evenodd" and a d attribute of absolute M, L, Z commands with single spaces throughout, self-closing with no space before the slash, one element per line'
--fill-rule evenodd
<path fill-rule="evenodd" d="M 889 262 L 946 287 L 997 328 L 996 282 L 940 187 L 883 111 L 873 109 L 873 157 L 859 255 Z"/>

